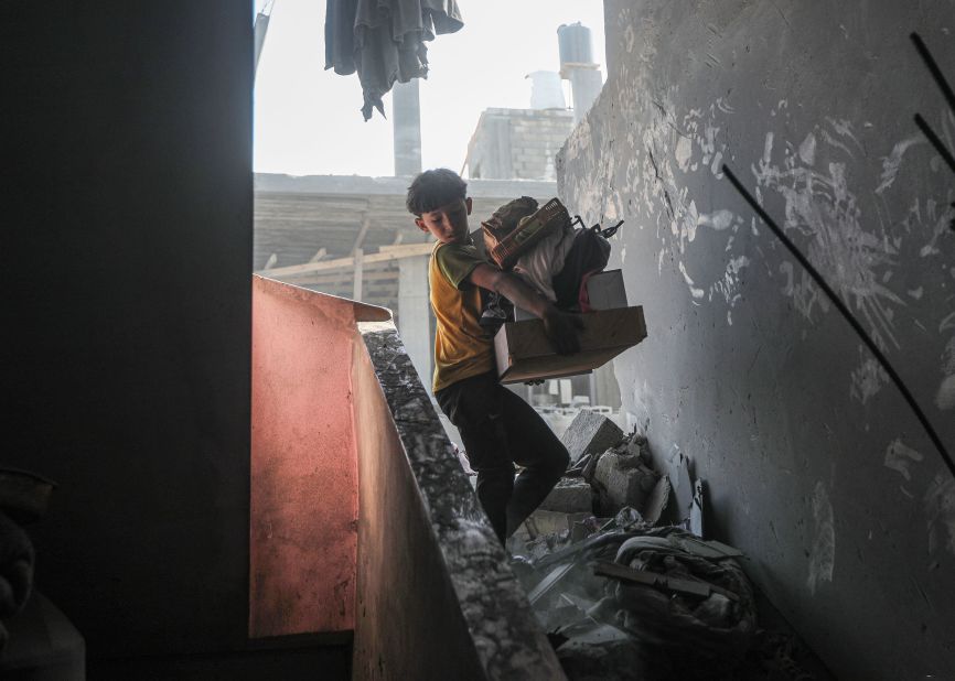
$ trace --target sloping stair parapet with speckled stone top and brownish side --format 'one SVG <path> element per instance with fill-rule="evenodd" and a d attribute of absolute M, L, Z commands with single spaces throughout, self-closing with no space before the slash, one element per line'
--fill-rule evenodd
<path fill-rule="evenodd" d="M 360 331 L 353 678 L 564 679 L 394 325 Z"/>

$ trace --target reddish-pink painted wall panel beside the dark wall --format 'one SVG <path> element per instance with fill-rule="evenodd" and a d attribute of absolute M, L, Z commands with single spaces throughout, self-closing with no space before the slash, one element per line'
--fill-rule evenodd
<path fill-rule="evenodd" d="M 354 303 L 253 281 L 249 636 L 355 627 Z"/>

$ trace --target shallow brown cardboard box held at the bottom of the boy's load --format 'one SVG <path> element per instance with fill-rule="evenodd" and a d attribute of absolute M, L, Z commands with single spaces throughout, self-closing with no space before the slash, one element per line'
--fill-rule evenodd
<path fill-rule="evenodd" d="M 494 336 L 502 383 L 588 374 L 646 338 L 643 307 L 599 310 L 581 314 L 580 352 L 558 355 L 544 333 L 544 322 L 507 322 Z"/>

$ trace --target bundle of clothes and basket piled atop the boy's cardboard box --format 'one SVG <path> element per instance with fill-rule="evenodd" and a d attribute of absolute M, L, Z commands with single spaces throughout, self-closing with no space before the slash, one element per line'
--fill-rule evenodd
<path fill-rule="evenodd" d="M 613 227 L 580 229 L 580 216 L 570 218 L 564 204 L 551 198 L 538 207 L 530 196 L 515 198 L 481 223 L 490 260 L 511 270 L 525 283 L 567 312 L 590 312 L 587 281 L 603 271 L 610 259 L 610 241 L 623 220 Z M 491 333 L 513 320 L 513 306 L 487 294 L 481 324 Z"/>

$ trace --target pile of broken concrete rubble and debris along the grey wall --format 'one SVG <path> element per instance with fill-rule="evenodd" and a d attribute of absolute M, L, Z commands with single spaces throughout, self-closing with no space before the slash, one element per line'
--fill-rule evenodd
<path fill-rule="evenodd" d="M 572 467 L 507 548 L 569 679 L 817 678 L 760 628 L 742 552 L 702 539 L 685 455 L 670 485 L 644 436 L 591 412 L 565 445 Z"/>

